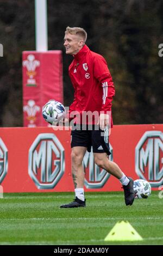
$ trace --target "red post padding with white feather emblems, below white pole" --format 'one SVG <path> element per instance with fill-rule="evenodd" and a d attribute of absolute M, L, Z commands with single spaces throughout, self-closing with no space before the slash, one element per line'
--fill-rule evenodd
<path fill-rule="evenodd" d="M 63 102 L 62 52 L 24 51 L 23 124 L 48 126 L 42 118 L 42 106 L 51 99 Z"/>

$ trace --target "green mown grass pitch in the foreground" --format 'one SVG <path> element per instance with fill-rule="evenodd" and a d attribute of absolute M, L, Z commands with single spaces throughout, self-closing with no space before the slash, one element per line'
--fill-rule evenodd
<path fill-rule="evenodd" d="M 163 245 L 163 199 L 124 204 L 122 192 L 87 192 L 86 208 L 60 209 L 74 193 L 5 193 L 0 245 Z M 143 241 L 104 242 L 117 221 L 127 220 Z"/>

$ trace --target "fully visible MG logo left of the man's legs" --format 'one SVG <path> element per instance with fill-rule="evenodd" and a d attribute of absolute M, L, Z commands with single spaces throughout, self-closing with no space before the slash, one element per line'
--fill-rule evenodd
<path fill-rule="evenodd" d="M 28 173 L 39 189 L 51 189 L 65 172 L 65 150 L 53 133 L 38 135 L 29 149 Z"/>

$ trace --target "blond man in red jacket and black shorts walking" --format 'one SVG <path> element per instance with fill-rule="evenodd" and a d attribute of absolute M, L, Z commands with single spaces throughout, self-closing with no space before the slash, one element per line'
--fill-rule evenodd
<path fill-rule="evenodd" d="M 87 34 L 83 28 L 67 27 L 64 46 L 66 54 L 74 59 L 69 67 L 69 75 L 74 87 L 74 101 L 66 114 L 65 123 L 76 120 L 71 135 L 72 176 L 76 198 L 61 208 L 84 207 L 84 168 L 83 158 L 93 148 L 95 163 L 120 180 L 126 205 L 134 202 L 133 179 L 127 177 L 115 162 L 108 159 L 109 119 L 112 126 L 111 106 L 115 94 L 114 83 L 105 59 L 90 51 L 85 45 Z M 86 113 L 92 118 L 85 118 Z M 98 114 L 98 120 L 94 114 Z M 76 118 L 74 118 L 76 116 Z M 78 117 L 77 117 L 78 116 Z M 83 126 L 83 124 L 85 126 Z M 90 125 L 91 124 L 91 129 Z M 84 127 L 84 128 L 83 128 Z"/>

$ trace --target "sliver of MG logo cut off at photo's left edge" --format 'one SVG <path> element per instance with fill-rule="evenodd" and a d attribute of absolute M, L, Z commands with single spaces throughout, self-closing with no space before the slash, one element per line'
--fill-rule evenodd
<path fill-rule="evenodd" d="M 0 184 L 8 172 L 8 149 L 0 138 Z"/>

